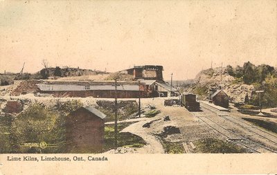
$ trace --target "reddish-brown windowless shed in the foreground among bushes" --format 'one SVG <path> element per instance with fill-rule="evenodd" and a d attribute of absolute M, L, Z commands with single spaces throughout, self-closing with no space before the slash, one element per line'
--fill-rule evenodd
<path fill-rule="evenodd" d="M 106 115 L 93 107 L 81 107 L 66 116 L 66 148 L 69 152 L 100 152 Z"/>

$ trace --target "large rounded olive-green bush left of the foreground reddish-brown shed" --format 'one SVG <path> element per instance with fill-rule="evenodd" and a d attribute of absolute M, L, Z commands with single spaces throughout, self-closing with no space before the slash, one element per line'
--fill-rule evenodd
<path fill-rule="evenodd" d="M 64 148 L 64 118 L 58 113 L 33 104 L 12 121 L 10 146 L 12 153 L 56 153 Z M 24 143 L 55 144 L 57 147 L 22 147 Z"/>

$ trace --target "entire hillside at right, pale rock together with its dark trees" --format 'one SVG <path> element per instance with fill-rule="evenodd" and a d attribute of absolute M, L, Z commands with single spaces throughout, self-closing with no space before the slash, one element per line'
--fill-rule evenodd
<path fill-rule="evenodd" d="M 264 90 L 263 104 L 268 107 L 277 105 L 277 73 L 276 68 L 269 65 L 255 66 L 246 62 L 242 67 L 209 68 L 198 73 L 194 81 L 194 84 L 184 85 L 184 91 L 196 93 L 202 100 L 208 97 L 208 89 L 221 87 L 231 102 L 244 102 L 247 98 L 249 104 L 258 105 L 255 91 Z"/>

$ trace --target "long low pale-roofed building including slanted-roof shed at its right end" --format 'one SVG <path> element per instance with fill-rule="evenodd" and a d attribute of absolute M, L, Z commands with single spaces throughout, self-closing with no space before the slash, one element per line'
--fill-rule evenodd
<path fill-rule="evenodd" d="M 177 96 L 177 89 L 165 82 L 143 80 L 141 82 L 118 82 L 117 98 L 153 98 Z M 115 98 L 114 82 L 57 82 L 45 81 L 37 84 L 39 93 L 50 93 L 54 97 Z M 170 95 L 171 93 L 171 95 Z"/>

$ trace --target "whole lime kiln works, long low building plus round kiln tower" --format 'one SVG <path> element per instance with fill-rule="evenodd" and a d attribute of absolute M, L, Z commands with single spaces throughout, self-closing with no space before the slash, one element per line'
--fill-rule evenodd
<path fill-rule="evenodd" d="M 163 66 L 134 66 L 120 73 L 134 75 L 133 81 L 59 82 L 44 81 L 37 84 L 39 93 L 51 93 L 54 97 L 93 98 L 154 98 L 180 95 L 179 91 L 163 81 Z M 117 94 L 117 95 L 116 95 Z"/>

